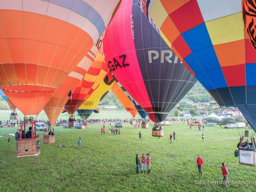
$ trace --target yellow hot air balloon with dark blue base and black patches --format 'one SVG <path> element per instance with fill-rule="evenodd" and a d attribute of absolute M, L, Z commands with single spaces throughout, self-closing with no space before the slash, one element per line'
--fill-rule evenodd
<path fill-rule="evenodd" d="M 106 96 L 106 94 L 108 94 L 109 90 L 114 85 L 114 79 L 111 77 L 110 72 L 108 72 L 104 81 L 102 81 L 92 95 L 77 110 L 82 120 L 86 120 L 98 106 L 100 101 Z"/>

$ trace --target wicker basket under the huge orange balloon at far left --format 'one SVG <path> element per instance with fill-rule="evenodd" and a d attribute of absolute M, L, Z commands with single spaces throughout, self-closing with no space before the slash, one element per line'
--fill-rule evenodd
<path fill-rule="evenodd" d="M 40 141 L 39 136 L 30 139 L 16 140 L 17 144 L 17 157 L 30 157 L 40 154 Z"/>

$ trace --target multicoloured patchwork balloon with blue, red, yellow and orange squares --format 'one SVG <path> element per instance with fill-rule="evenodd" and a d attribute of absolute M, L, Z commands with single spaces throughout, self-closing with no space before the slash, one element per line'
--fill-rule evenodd
<path fill-rule="evenodd" d="M 254 26 L 244 30 L 241 0 L 143 0 L 139 4 L 216 102 L 238 107 L 256 130 L 256 52 L 245 32 L 253 32 Z M 252 17 L 244 12 L 248 26 Z"/>

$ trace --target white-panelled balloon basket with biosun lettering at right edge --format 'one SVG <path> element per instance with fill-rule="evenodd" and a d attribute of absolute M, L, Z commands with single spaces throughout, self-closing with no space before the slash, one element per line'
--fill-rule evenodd
<path fill-rule="evenodd" d="M 239 149 L 239 164 L 256 166 L 256 150 Z"/>

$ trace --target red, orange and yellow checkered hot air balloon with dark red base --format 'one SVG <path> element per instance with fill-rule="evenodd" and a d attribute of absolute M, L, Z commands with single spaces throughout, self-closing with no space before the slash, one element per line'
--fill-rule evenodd
<path fill-rule="evenodd" d="M 76 87 L 72 96 L 65 104 L 65 109 L 69 114 L 74 114 L 84 101 L 89 98 L 99 84 L 103 82 L 108 71 L 108 66 L 100 51 L 85 74 L 84 79 Z"/>

